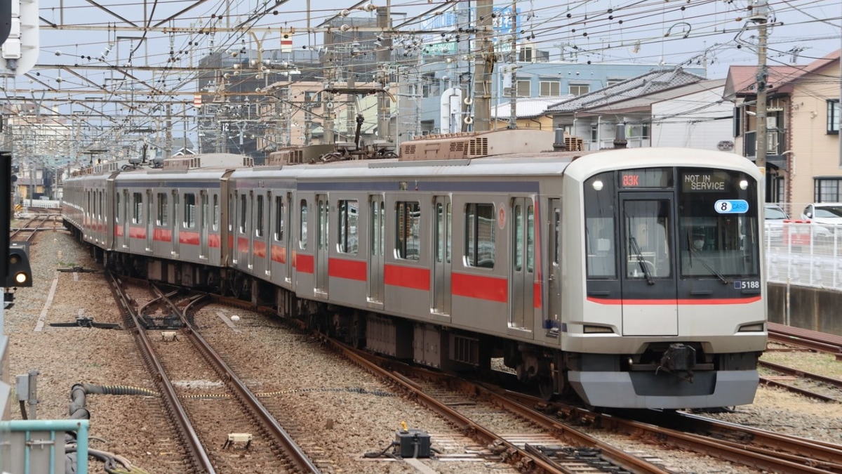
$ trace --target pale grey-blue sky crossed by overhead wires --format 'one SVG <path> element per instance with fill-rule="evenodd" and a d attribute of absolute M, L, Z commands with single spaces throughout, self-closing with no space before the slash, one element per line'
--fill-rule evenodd
<path fill-rule="evenodd" d="M 493 19 L 498 44 L 510 44 L 513 6 L 519 43 L 549 51 L 552 61 L 685 64 L 706 67 L 709 78 L 726 77 L 730 65 L 758 62 L 752 18 L 763 17 L 756 3 L 745 0 L 496 2 L 503 9 Z M 60 114 L 78 110 L 73 100 L 98 98 L 88 110 L 110 116 L 112 125 L 132 104 L 157 113 L 158 99 L 184 99 L 185 115 L 192 114 L 187 102 L 197 91 L 190 68 L 201 57 L 258 44 L 278 49 L 282 34 L 291 35 L 295 48 L 316 49 L 322 35 L 307 34 L 308 25 L 318 30 L 332 18 L 374 18 L 374 7 L 391 8 L 395 44 L 418 46 L 410 56 L 456 35 L 469 40 L 477 26 L 476 13 L 469 19 L 452 13 L 476 7 L 467 0 L 40 0 L 35 67 L 0 80 L 9 102 L 36 101 Z M 770 66 L 807 64 L 842 47 L 839 0 L 769 0 L 765 18 Z M 439 30 L 431 34 L 430 24 Z"/>

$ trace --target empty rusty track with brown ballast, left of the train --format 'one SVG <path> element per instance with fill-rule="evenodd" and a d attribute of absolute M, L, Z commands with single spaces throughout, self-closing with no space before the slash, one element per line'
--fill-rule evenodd
<path fill-rule="evenodd" d="M 138 304 L 122 281 L 111 276 L 111 283 L 127 313 L 126 325 L 133 328 L 193 471 L 236 472 L 263 466 L 264 471 L 271 472 L 319 472 L 189 323 L 185 314 L 194 310 L 200 299 L 182 299 L 176 303 L 171 299 L 176 292 L 158 291 L 155 297 Z M 136 306 L 145 313 L 136 310 Z M 150 327 L 151 320 L 158 320 L 156 315 L 163 312 L 163 307 L 179 315 L 181 329 L 157 331 L 160 326 L 152 326 L 155 331 L 144 329 Z M 168 324 L 173 325 L 173 320 Z M 183 341 L 189 341 L 189 346 Z M 190 364 L 186 364 L 188 360 Z M 197 367 L 200 360 L 204 364 Z M 200 394 L 195 393 L 197 385 Z"/>

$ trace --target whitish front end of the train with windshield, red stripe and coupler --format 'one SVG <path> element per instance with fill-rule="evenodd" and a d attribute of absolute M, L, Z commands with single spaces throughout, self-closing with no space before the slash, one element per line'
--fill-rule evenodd
<path fill-rule="evenodd" d="M 581 298 L 562 302 L 572 388 L 597 407 L 754 401 L 766 343 L 757 167 L 635 148 L 577 159 L 565 176 L 583 229 L 566 245 L 568 295 Z"/>

